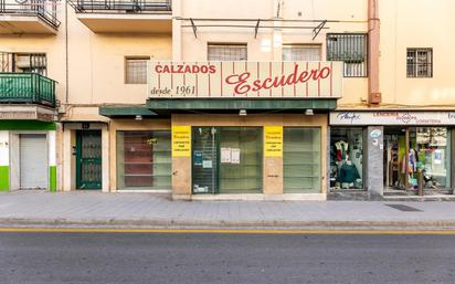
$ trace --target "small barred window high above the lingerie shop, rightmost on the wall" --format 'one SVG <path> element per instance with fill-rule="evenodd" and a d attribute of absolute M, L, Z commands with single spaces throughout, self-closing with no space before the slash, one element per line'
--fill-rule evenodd
<path fill-rule="evenodd" d="M 433 76 L 433 50 L 432 49 L 408 49 L 406 51 L 406 75 L 408 77 L 432 77 Z"/>

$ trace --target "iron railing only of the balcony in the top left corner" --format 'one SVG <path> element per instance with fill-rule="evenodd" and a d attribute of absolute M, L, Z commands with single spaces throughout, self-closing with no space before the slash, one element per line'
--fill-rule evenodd
<path fill-rule="evenodd" d="M 36 15 L 53 28 L 59 28 L 55 0 L 25 0 L 23 3 L 0 0 L 0 14 Z"/>

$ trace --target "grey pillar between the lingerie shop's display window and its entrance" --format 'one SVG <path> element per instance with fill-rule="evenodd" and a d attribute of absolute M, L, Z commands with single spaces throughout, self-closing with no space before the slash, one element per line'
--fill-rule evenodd
<path fill-rule="evenodd" d="M 384 151 L 384 127 L 367 127 L 367 179 L 366 186 L 370 196 L 382 196 L 383 182 L 383 151 Z"/>

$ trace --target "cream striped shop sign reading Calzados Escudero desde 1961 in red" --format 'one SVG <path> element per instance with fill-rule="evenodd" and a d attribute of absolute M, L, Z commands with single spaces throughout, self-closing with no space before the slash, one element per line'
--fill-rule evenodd
<path fill-rule="evenodd" d="M 150 62 L 148 98 L 339 98 L 341 62 Z"/>

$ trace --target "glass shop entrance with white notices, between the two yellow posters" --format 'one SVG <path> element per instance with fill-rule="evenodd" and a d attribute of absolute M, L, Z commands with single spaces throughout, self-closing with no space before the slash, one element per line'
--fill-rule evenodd
<path fill-rule="evenodd" d="M 193 127 L 193 193 L 261 193 L 261 127 Z"/>

